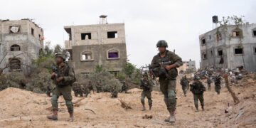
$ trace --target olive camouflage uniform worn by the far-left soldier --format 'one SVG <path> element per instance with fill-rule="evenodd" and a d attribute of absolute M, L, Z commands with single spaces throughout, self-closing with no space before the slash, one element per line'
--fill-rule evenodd
<path fill-rule="evenodd" d="M 66 102 L 66 106 L 68 107 L 68 112 L 73 112 L 73 103 L 72 103 L 72 82 L 75 80 L 75 73 L 73 68 L 70 68 L 68 63 L 64 63 L 62 67 L 57 67 L 58 75 L 63 77 L 63 80 L 58 82 L 55 78 L 53 79 L 54 84 L 56 85 L 53 90 L 53 97 L 51 99 L 53 110 L 58 110 L 58 97 L 63 95 L 64 100 Z"/>

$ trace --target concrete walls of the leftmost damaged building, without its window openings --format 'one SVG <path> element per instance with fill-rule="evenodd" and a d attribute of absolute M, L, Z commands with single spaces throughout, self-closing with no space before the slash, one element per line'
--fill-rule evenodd
<path fill-rule="evenodd" d="M 21 70 L 24 74 L 28 74 L 31 71 L 31 63 L 33 59 L 37 59 L 39 56 L 39 50 L 43 47 L 43 29 L 36 26 L 35 23 L 28 20 L 20 21 L 0 21 L 0 59 L 4 58 L 0 68 L 9 63 L 9 59 L 15 55 L 18 60 L 21 61 Z M 21 26 L 21 33 L 9 33 L 10 26 Z M 34 34 L 31 35 L 31 28 L 34 29 Z M 39 38 L 39 34 L 41 38 Z M 21 50 L 11 51 L 12 45 L 20 46 Z M 4 70 L 4 73 L 8 73 L 9 68 Z"/>

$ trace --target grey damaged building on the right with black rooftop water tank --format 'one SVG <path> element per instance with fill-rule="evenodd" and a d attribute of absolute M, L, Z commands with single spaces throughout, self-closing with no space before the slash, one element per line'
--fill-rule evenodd
<path fill-rule="evenodd" d="M 201 68 L 256 71 L 256 24 L 220 26 L 199 36 Z"/>

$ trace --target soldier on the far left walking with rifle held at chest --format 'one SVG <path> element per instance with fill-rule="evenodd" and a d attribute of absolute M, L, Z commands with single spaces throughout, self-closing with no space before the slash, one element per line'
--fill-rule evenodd
<path fill-rule="evenodd" d="M 65 55 L 62 53 L 55 54 L 55 61 L 57 63 L 57 68 L 54 68 L 51 77 L 53 83 L 56 85 L 53 90 L 53 97 L 51 98 L 53 115 L 48 116 L 48 119 L 58 120 L 58 97 L 63 95 L 70 114 L 70 121 L 74 121 L 71 90 L 72 84 L 75 82 L 75 73 L 73 68 L 70 68 L 68 63 L 65 63 Z"/>

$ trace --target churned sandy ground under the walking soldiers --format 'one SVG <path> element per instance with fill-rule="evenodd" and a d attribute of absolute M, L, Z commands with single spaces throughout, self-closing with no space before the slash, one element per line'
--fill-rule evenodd
<path fill-rule="evenodd" d="M 178 83 L 178 82 L 177 82 Z M 240 99 L 233 105 L 233 99 L 226 87 L 222 87 L 220 95 L 216 95 L 214 85 L 211 91 L 204 93 L 205 111 L 194 112 L 193 95 L 188 92 L 183 96 L 181 85 L 177 84 L 176 124 L 164 122 L 169 116 L 161 92 L 152 92 L 153 108 L 142 112 L 140 94 L 142 90 L 129 90 L 130 94 L 119 93 L 132 107 L 124 110 L 119 100 L 110 98 L 110 93 L 95 93 L 82 98 L 75 107 L 75 121 L 68 122 L 69 114 L 65 105 L 60 106 L 58 121 L 46 119 L 51 114 L 50 97 L 9 87 L 0 92 L 0 127 L 256 127 L 256 81 L 248 76 L 247 80 L 233 85 L 233 90 Z M 73 97 L 73 101 L 81 97 Z M 64 101 L 60 97 L 59 101 Z M 233 112 L 225 114 L 228 102 Z M 96 114 L 85 110 L 91 109 Z M 145 115 L 152 119 L 142 119 Z"/>

